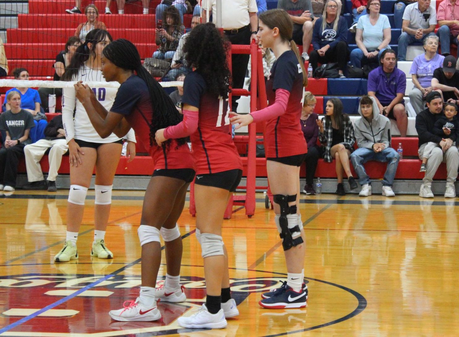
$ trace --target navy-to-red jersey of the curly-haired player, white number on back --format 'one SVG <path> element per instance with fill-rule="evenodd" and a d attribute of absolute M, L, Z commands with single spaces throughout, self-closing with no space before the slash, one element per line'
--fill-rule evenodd
<path fill-rule="evenodd" d="M 198 128 L 190 135 L 196 174 L 242 170 L 231 138 L 228 99 L 210 94 L 204 78 L 194 71 L 185 77 L 182 103 L 199 109 Z"/>

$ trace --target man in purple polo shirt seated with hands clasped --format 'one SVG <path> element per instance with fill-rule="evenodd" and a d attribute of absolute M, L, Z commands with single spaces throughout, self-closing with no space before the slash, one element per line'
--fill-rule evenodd
<path fill-rule="evenodd" d="M 381 54 L 381 66 L 368 75 L 368 95 L 376 99 L 379 112 L 397 121 L 401 137 L 406 137 L 408 116 L 403 96 L 406 89 L 405 73 L 395 66 L 395 51 L 386 49 Z"/>

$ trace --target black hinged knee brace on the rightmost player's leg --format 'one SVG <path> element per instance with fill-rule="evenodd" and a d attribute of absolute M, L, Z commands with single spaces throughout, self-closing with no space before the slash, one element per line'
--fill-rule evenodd
<path fill-rule="evenodd" d="M 300 232 L 300 227 L 296 224 L 295 226 L 288 226 L 287 215 L 297 214 L 297 205 L 289 206 L 289 202 L 297 200 L 297 194 L 295 195 L 283 195 L 274 194 L 273 200 L 280 206 L 279 226 L 280 226 L 280 238 L 282 239 L 282 248 L 289 250 L 300 243 L 303 243 L 303 239 L 300 237 L 292 238 L 292 233 Z"/>

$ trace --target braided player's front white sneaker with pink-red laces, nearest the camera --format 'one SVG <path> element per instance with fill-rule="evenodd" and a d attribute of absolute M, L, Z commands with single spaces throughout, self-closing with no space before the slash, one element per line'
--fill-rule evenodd
<path fill-rule="evenodd" d="M 147 308 L 140 304 L 140 298 L 135 301 L 124 301 L 123 309 L 111 310 L 108 315 L 114 320 L 121 322 L 130 321 L 151 321 L 159 320 L 161 313 L 159 312 L 156 303 L 154 307 Z"/>

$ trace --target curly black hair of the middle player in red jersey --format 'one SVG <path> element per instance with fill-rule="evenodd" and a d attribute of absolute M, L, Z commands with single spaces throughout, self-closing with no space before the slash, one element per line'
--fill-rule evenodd
<path fill-rule="evenodd" d="M 228 98 L 231 73 L 226 59 L 229 43 L 213 23 L 197 25 L 186 39 L 185 59 L 195 66 L 211 94 Z"/>

